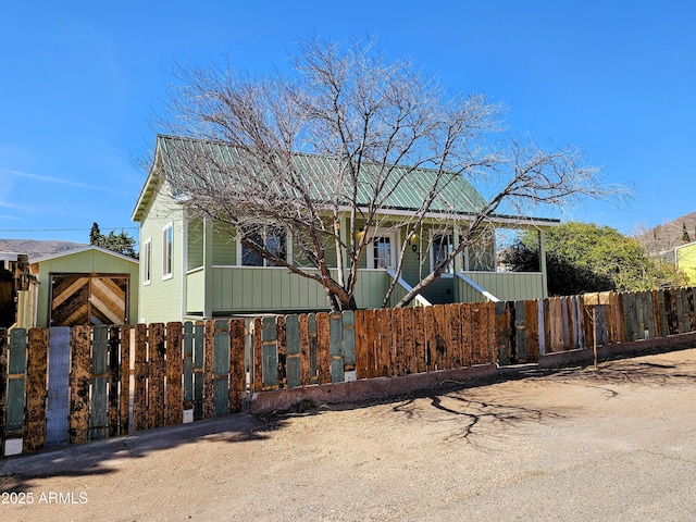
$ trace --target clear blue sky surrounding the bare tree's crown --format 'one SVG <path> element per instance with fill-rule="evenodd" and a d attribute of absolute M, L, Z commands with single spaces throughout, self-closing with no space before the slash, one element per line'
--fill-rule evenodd
<path fill-rule="evenodd" d="M 34 1 L 0 8 L 0 238 L 137 236 L 152 114 L 174 63 L 265 72 L 298 37 L 372 35 L 451 90 L 509 107 L 515 134 L 581 145 L 629 208 L 558 216 L 632 233 L 696 211 L 696 2 Z"/>

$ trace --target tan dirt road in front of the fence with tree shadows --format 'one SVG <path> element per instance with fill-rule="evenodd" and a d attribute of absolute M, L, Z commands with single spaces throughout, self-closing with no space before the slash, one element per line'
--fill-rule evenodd
<path fill-rule="evenodd" d="M 0 520 L 694 519 L 696 350 L 520 377 L 10 458 Z"/>

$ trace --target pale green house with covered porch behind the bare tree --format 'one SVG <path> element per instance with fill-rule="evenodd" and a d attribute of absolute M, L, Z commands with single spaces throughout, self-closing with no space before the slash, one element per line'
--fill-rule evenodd
<path fill-rule="evenodd" d="M 214 149 L 223 161 L 234 161 L 238 151 L 228 145 L 173 136 L 158 136 L 153 164 L 140 191 L 132 220 L 140 225 L 139 321 L 165 322 L 182 319 L 229 316 L 247 313 L 320 311 L 327 309 L 323 287 L 287 269 L 270 266 L 262 258 L 248 251 L 240 243 L 210 219 L 188 214 L 185 195 L 172 194 L 166 178 L 174 171 L 184 172 L 178 160 L 183 150 L 194 147 Z M 229 159 L 229 160 L 227 160 Z M 296 154 L 304 167 L 319 171 L 330 160 Z M 432 176 L 433 171 L 420 169 L 418 176 Z M 328 171 L 326 176 L 330 176 Z M 393 281 L 391 269 L 405 234 L 403 221 L 412 216 L 422 196 L 401 186 L 390 196 L 388 215 L 372 232 L 373 248 L 369 248 L 360 266 L 356 290 L 359 308 L 378 308 Z M 477 191 L 462 177 L 456 176 L 447 186 L 449 200 L 456 208 L 431 208 L 420 234 L 408 238 L 403 270 L 396 297 L 405 295 L 421 275 L 426 275 L 443 252 L 458 243 L 458 229 L 443 228 L 440 214 L 447 210 L 465 226 L 474 217 L 472 201 L 482 201 Z M 395 210 L 397 209 L 397 210 Z M 347 229 L 347 215 L 341 217 L 341 231 Z M 424 289 L 422 304 L 472 302 L 488 299 L 515 300 L 546 297 L 546 266 L 543 231 L 559 224 L 556 220 L 490 216 L 496 227 L 532 228 L 539 232 L 542 266 L 538 273 L 496 271 L 494 235 L 484 233 L 476 245 L 449 268 L 448 273 Z M 288 233 L 271 223 L 259 228 L 260 240 L 284 251 L 288 262 L 301 263 L 297 245 Z M 335 258 L 335 254 L 334 254 Z M 400 293 L 400 294 L 399 294 Z"/>

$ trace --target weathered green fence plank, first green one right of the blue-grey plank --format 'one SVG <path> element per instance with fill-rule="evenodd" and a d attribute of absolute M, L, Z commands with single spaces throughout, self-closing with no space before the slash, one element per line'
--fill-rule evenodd
<path fill-rule="evenodd" d="M 95 326 L 91 341 L 91 397 L 89 405 L 89 438 L 91 440 L 109 436 L 109 402 L 107 383 L 109 366 L 109 327 Z"/>

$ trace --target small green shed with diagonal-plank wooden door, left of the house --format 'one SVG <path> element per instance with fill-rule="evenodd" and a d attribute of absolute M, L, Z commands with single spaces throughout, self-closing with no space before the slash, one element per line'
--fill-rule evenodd
<path fill-rule="evenodd" d="M 32 261 L 38 277 L 37 326 L 135 324 L 139 263 L 100 247 Z"/>

